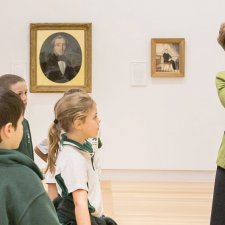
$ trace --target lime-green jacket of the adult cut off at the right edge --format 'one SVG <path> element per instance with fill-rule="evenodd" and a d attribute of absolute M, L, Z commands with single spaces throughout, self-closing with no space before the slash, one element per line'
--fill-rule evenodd
<path fill-rule="evenodd" d="M 219 95 L 219 99 L 222 105 L 225 107 L 225 71 L 219 72 L 216 76 L 216 87 Z M 225 169 L 225 133 L 220 145 L 217 165 Z"/>

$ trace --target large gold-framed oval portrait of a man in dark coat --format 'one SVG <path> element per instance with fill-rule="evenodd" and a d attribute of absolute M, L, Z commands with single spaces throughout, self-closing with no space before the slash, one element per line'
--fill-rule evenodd
<path fill-rule="evenodd" d="M 91 32 L 91 23 L 30 24 L 30 92 L 91 92 Z"/>

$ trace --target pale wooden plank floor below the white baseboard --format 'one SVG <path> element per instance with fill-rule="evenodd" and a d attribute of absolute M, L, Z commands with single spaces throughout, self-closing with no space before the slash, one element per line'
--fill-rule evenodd
<path fill-rule="evenodd" d="M 105 214 L 118 225 L 208 225 L 213 183 L 102 181 Z"/>

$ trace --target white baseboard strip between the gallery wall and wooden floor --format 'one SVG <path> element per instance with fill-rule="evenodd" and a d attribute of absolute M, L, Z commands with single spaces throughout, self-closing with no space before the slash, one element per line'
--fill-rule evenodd
<path fill-rule="evenodd" d="M 154 182 L 214 182 L 215 171 L 102 169 L 100 179 Z"/>

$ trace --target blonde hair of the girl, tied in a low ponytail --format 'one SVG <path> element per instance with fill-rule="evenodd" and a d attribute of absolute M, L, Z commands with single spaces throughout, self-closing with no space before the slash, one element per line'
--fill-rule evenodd
<path fill-rule="evenodd" d="M 70 131 L 72 123 L 77 119 L 85 122 L 93 105 L 94 100 L 83 92 L 64 95 L 55 104 L 55 120 L 48 132 L 49 153 L 46 171 L 49 169 L 51 173 L 55 172 L 61 132 Z"/>

